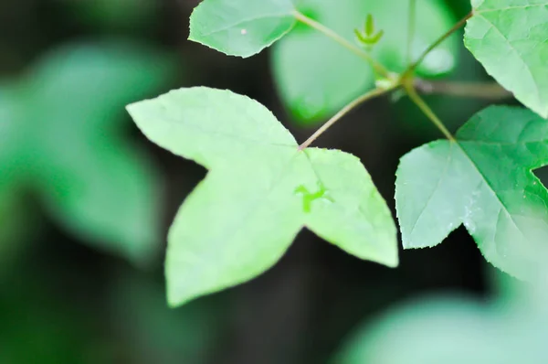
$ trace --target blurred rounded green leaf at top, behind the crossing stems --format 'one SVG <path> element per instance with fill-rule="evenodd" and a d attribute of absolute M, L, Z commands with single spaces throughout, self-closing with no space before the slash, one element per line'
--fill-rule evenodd
<path fill-rule="evenodd" d="M 302 0 L 301 13 L 332 28 L 349 41 L 353 29 L 361 27 L 368 14 L 384 34 L 372 56 L 389 70 L 406 68 L 407 1 Z M 454 24 L 442 2 L 417 2 L 416 37 L 412 55 L 416 58 L 437 37 Z M 450 37 L 421 64 L 421 76 L 434 77 L 453 70 L 458 52 L 458 37 Z M 374 87 L 371 67 L 352 52 L 316 30 L 295 27 L 277 43 L 272 63 L 279 95 L 300 123 L 316 123 L 339 111 L 342 106 Z"/>

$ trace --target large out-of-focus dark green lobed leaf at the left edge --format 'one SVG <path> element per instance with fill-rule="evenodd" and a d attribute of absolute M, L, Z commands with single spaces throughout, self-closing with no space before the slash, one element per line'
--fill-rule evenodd
<path fill-rule="evenodd" d="M 13 188 L 25 186 L 85 241 L 149 259 L 157 243 L 158 181 L 119 122 L 121 105 L 158 89 L 166 66 L 152 49 L 121 42 L 68 46 L 5 84 L 2 193 L 15 196 Z"/>

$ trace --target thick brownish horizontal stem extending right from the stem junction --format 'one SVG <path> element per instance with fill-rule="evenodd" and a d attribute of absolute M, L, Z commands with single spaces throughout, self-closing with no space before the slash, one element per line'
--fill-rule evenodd
<path fill-rule="evenodd" d="M 497 82 L 462 82 L 415 79 L 416 91 L 477 99 L 501 100 L 513 97 Z"/>

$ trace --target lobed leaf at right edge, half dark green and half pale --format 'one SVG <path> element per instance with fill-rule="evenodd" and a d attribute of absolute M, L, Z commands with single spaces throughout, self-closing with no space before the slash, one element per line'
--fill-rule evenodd
<path fill-rule="evenodd" d="M 457 134 L 405 155 L 395 200 L 404 248 L 440 243 L 460 224 L 502 271 L 532 279 L 548 253 L 548 191 L 532 169 L 548 164 L 548 123 L 491 106 Z"/>

